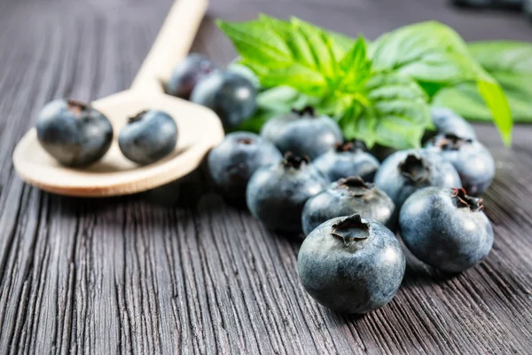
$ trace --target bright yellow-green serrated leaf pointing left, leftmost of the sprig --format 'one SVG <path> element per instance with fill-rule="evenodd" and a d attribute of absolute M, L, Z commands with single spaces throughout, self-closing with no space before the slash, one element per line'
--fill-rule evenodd
<path fill-rule="evenodd" d="M 295 18 L 288 22 L 261 15 L 259 20 L 217 24 L 263 87 L 287 85 L 311 96 L 330 91 L 346 46 L 355 43 Z"/>

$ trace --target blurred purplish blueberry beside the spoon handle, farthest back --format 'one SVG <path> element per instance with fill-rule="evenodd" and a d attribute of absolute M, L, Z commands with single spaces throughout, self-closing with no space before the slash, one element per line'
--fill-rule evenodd
<path fill-rule="evenodd" d="M 216 69 L 215 64 L 206 56 L 192 53 L 174 68 L 170 80 L 165 85 L 165 91 L 169 95 L 189 99 L 196 85 Z"/>

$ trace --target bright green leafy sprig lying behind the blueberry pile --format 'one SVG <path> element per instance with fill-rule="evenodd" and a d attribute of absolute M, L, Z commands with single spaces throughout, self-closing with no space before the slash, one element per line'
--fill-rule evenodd
<path fill-rule="evenodd" d="M 418 147 L 432 125 L 429 100 L 442 88 L 476 83 L 505 143 L 512 117 L 498 83 L 470 56 L 451 28 L 424 22 L 399 28 L 369 44 L 300 19 L 261 15 L 218 21 L 244 65 L 265 91 L 244 129 L 260 130 L 276 112 L 313 105 L 338 120 L 346 138 L 399 149 Z"/>

